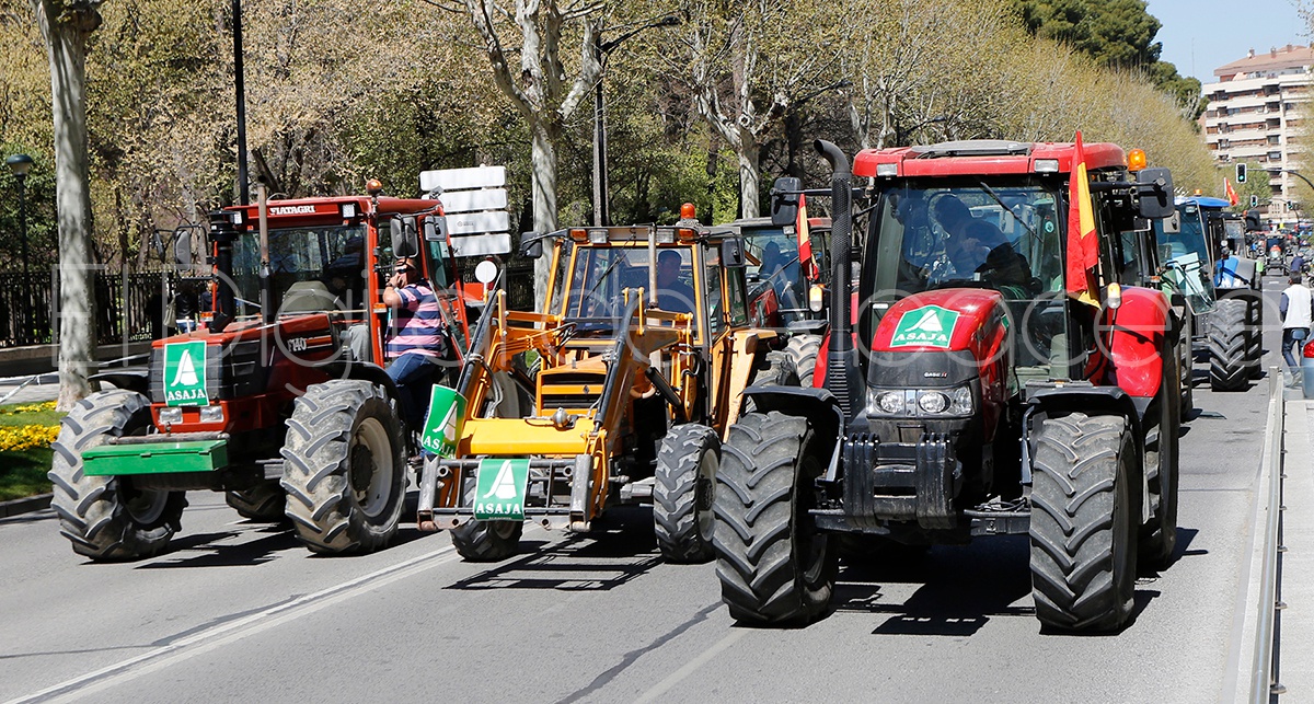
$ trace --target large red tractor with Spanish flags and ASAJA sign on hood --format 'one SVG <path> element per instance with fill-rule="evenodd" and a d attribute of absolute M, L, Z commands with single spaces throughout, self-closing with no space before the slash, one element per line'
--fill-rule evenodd
<path fill-rule="evenodd" d="M 862 151 L 850 175 L 816 146 L 830 280 L 861 252 L 861 303 L 850 318 L 851 290 L 830 289 L 819 387 L 745 390 L 756 410 L 715 493 L 732 616 L 823 615 L 840 539 L 1028 535 L 1041 623 L 1120 628 L 1138 556 L 1164 566 L 1176 545 L 1180 320 L 1163 292 L 1120 284 L 1120 235 L 1173 211 L 1167 169 L 1133 175 L 1108 143 L 1079 160 L 1075 144 L 968 141 Z M 870 179 L 857 238 L 853 175 Z M 1092 231 L 1068 232 L 1070 214 Z M 1077 255 L 1095 261 L 1067 267 Z"/>

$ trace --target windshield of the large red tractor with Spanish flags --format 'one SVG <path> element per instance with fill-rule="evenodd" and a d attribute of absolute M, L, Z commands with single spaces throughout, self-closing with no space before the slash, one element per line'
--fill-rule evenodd
<path fill-rule="evenodd" d="M 1054 184 L 1030 176 L 924 179 L 880 193 L 863 267 L 859 330 L 890 303 L 932 289 L 1000 292 L 1020 332 L 1018 378 L 1068 376 L 1063 238 Z"/>

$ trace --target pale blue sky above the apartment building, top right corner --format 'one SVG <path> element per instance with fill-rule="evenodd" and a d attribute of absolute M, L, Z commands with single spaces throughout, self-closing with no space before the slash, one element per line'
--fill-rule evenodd
<path fill-rule="evenodd" d="M 1314 0 L 1307 0 L 1314 5 Z M 1213 83 L 1214 68 L 1271 47 L 1309 45 L 1310 37 L 1296 11 L 1297 0 L 1150 0 L 1150 14 L 1163 28 L 1160 59 L 1177 66 L 1183 76 Z"/>

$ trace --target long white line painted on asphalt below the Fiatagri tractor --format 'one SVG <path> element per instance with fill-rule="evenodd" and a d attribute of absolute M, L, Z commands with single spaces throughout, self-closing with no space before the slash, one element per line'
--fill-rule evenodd
<path fill-rule="evenodd" d="M 325 607 L 359 596 L 377 587 L 406 579 L 444 562 L 449 562 L 455 557 L 455 548 L 448 545 L 432 553 L 413 557 L 405 562 L 398 562 L 397 565 L 376 570 L 314 594 L 300 596 L 285 604 L 273 605 L 233 621 L 217 624 L 213 628 L 200 630 L 148 653 L 142 653 L 141 655 L 60 682 L 39 692 L 12 699 L 7 704 L 84 699 L 91 693 L 108 690 L 148 672 L 163 670 L 247 636 L 269 630 L 271 628 L 307 616 Z"/>

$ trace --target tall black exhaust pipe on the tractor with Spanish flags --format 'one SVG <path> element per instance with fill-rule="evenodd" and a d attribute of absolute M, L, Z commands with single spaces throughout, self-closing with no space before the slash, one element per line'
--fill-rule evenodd
<path fill-rule="evenodd" d="M 825 387 L 834 394 L 845 418 L 858 414 L 862 377 L 849 324 L 850 278 L 853 278 L 853 171 L 840 147 L 817 139 L 812 147 L 830 164 L 830 344 L 827 353 Z"/>

